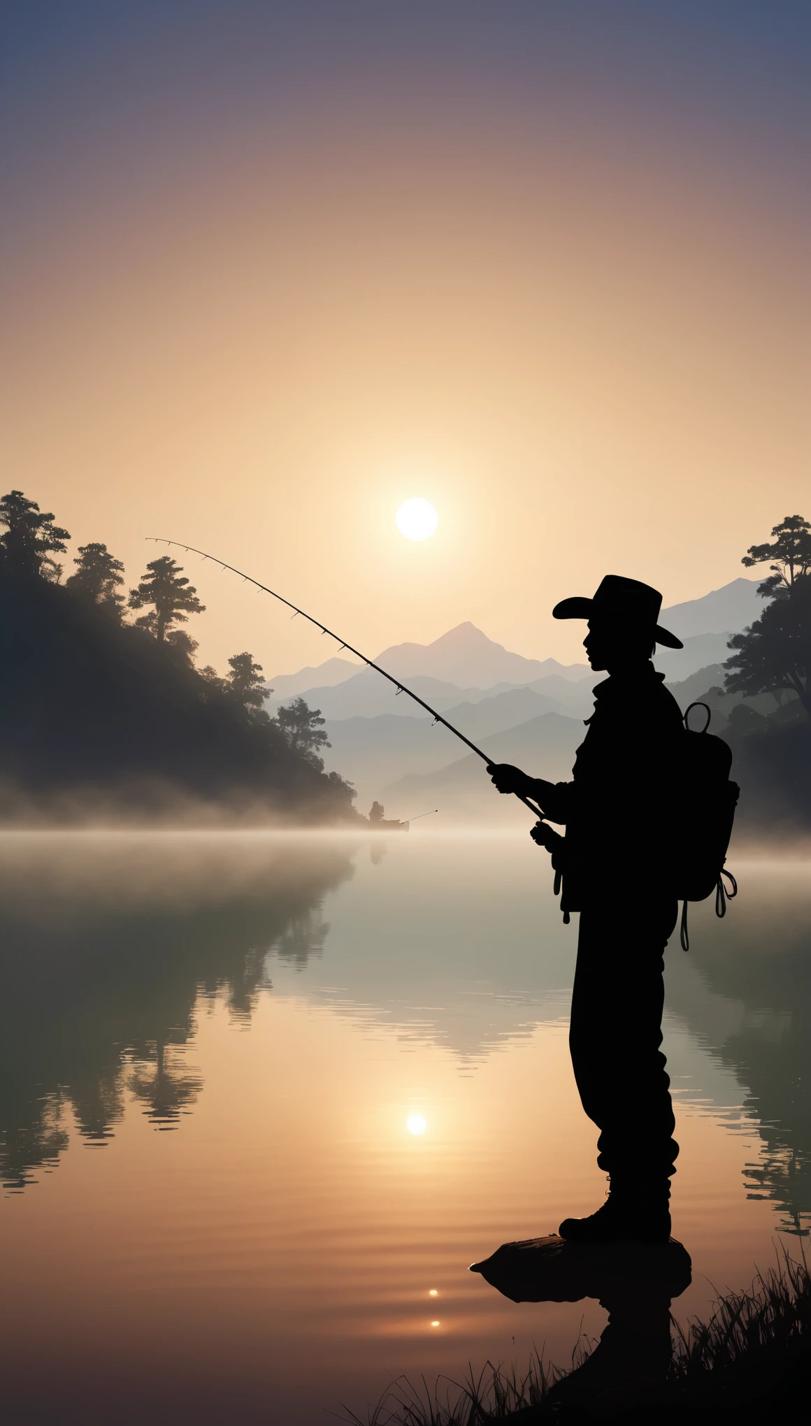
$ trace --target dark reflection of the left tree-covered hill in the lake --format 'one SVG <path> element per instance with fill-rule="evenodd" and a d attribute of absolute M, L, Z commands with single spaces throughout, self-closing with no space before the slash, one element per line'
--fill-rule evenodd
<path fill-rule="evenodd" d="M 0 841 L 0 1172 L 23 1188 L 67 1148 L 64 1109 L 104 1144 L 130 1091 L 160 1129 L 201 1089 L 185 1064 L 200 995 L 249 1018 L 271 947 L 321 954 L 324 894 L 351 847 L 224 838 Z"/>

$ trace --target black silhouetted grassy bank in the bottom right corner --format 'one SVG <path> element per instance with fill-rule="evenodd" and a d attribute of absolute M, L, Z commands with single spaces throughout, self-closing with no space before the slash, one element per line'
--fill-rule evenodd
<path fill-rule="evenodd" d="M 633 1409 L 614 1405 L 614 1420 L 780 1422 L 804 1420 L 811 1395 L 811 1276 L 805 1258 L 782 1253 L 777 1266 L 758 1273 L 748 1292 L 716 1299 L 708 1320 L 681 1328 L 671 1318 L 673 1360 L 656 1416 L 650 1405 Z M 577 1343 L 573 1368 L 582 1366 L 593 1346 Z M 487 1362 L 465 1382 L 439 1378 L 433 1387 L 422 1378 L 415 1385 L 399 1378 L 365 1416 L 348 1407 L 352 1426 L 480 1426 L 495 1420 L 587 1420 L 576 1407 L 556 1402 L 554 1387 L 572 1372 L 546 1363 L 534 1353 L 526 1372 L 513 1365 Z M 633 1375 L 633 1373 L 629 1373 Z M 609 1415 L 609 1412 L 604 1412 Z"/>

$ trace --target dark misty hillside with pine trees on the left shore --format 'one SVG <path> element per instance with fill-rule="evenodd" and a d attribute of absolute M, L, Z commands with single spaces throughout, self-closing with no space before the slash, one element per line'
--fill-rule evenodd
<path fill-rule="evenodd" d="M 53 516 L 11 492 L 0 522 L 0 819 L 356 816 L 349 784 L 324 773 L 316 712 L 268 717 L 249 653 L 225 677 L 194 666 L 180 625 L 202 607 L 174 560 L 130 593 L 147 610 L 131 623 L 104 545 L 81 546 L 63 585 Z"/>

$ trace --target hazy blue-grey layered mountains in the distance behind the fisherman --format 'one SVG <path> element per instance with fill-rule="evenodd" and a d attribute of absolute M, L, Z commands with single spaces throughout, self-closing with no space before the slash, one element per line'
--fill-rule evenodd
<path fill-rule="evenodd" d="M 734 579 L 703 599 L 661 612 L 660 623 L 684 640 L 684 649 L 657 649 L 654 665 L 683 707 L 723 682 L 730 635 L 761 609 L 754 580 Z M 587 663 L 512 653 L 469 622 L 429 645 L 392 645 L 375 663 L 408 683 L 487 757 L 526 764 L 550 779 L 569 774 L 583 720 L 592 713 L 593 684 L 603 677 Z M 398 817 L 430 806 L 440 807 L 438 821 L 446 823 L 523 816 L 515 799 L 493 793 L 476 754 L 466 754 L 448 729 L 433 724 L 408 696 L 398 696 L 375 670 L 334 657 L 269 683 L 271 713 L 298 694 L 321 709 L 332 744 L 325 750 L 326 769 L 355 783 L 361 810 L 383 799 Z"/>

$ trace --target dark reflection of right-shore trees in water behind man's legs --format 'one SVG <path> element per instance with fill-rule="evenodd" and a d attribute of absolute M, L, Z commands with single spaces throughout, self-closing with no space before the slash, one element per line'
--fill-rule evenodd
<path fill-rule="evenodd" d="M 747 1188 L 774 1199 L 797 1232 L 811 1214 L 811 886 L 800 863 L 741 871 L 730 917 L 707 917 L 691 937 L 690 957 L 723 997 L 716 1014 L 713 998 L 678 1004 L 677 985 L 668 998 L 747 1087 L 744 1112 L 763 1141 Z"/>

